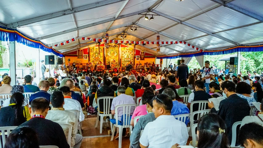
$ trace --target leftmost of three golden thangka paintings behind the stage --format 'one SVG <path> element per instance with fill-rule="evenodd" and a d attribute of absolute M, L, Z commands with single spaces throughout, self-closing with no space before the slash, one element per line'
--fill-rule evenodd
<path fill-rule="evenodd" d="M 89 60 L 93 65 L 97 65 L 97 63 L 103 63 L 103 51 L 104 47 L 93 46 L 89 47 Z"/>

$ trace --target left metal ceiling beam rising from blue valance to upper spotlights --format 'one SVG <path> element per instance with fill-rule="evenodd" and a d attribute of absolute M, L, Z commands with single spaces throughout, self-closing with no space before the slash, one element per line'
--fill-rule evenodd
<path fill-rule="evenodd" d="M 133 13 L 130 13 L 130 14 L 120 15 L 117 18 L 105 19 L 103 21 L 99 21 L 99 22 L 88 24 L 88 25 L 80 26 L 78 28 L 72 28 L 72 29 L 69 29 L 69 30 L 57 32 L 57 33 L 50 34 L 50 35 L 45 35 L 45 36 L 42 36 L 42 37 L 38 37 L 36 39 L 37 40 L 41 40 L 41 39 L 47 39 L 47 38 L 50 38 L 50 37 L 53 37 L 53 36 L 57 36 L 57 35 L 63 35 L 63 34 L 68 33 L 68 32 L 72 32 L 72 31 L 76 31 L 76 30 L 80 30 L 80 29 L 96 26 L 96 25 L 99 25 L 99 24 L 115 21 L 115 20 L 118 20 L 118 19 L 126 18 L 126 17 L 133 16 L 133 15 L 137 15 L 137 14 L 140 14 L 140 13 L 143 13 L 143 12 L 147 12 L 147 11 L 148 11 L 148 9 L 145 9 L 145 10 L 133 12 Z"/>

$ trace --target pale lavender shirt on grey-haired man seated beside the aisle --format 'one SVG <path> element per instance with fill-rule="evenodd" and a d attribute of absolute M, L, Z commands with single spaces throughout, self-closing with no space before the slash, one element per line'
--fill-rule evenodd
<path fill-rule="evenodd" d="M 111 110 L 115 110 L 115 107 L 117 105 L 123 105 L 123 104 L 136 104 L 134 102 L 133 97 L 125 95 L 125 94 L 120 94 L 119 96 L 113 98 L 112 104 L 111 104 Z M 131 115 L 134 112 L 135 107 L 131 107 Z M 123 115 L 123 107 L 118 108 L 118 120 L 121 121 L 121 116 Z M 116 119 L 115 115 L 114 118 Z"/>

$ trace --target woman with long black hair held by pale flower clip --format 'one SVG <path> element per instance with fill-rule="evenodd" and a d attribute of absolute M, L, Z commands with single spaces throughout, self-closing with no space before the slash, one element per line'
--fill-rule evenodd
<path fill-rule="evenodd" d="M 229 148 L 226 124 L 217 114 L 208 113 L 197 125 L 198 148 Z"/>

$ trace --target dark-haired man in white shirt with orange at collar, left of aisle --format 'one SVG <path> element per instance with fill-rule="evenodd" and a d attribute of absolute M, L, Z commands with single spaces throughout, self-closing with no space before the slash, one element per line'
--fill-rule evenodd
<path fill-rule="evenodd" d="M 64 96 L 65 104 L 64 104 L 63 108 L 65 110 L 78 110 L 78 111 L 80 111 L 79 122 L 84 121 L 85 115 L 82 112 L 80 102 L 72 99 L 69 87 L 68 86 L 61 86 L 60 91 L 63 92 L 63 96 Z"/>

